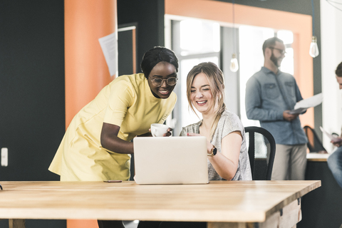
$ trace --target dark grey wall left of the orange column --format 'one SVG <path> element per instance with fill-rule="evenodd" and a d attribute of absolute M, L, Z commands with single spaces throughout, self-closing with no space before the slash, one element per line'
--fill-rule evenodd
<path fill-rule="evenodd" d="M 65 130 L 63 1 L 0 1 L 1 180 L 58 180 L 47 170 Z"/>

